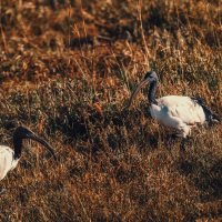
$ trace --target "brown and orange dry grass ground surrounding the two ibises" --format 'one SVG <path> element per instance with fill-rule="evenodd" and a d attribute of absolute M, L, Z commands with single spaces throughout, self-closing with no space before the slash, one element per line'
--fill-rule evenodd
<path fill-rule="evenodd" d="M 149 115 L 158 95 L 201 97 L 222 115 L 220 0 L 0 1 L 0 139 L 24 124 L 59 158 L 28 141 L 1 181 L 0 221 L 220 221 L 222 129 L 180 141 Z"/>

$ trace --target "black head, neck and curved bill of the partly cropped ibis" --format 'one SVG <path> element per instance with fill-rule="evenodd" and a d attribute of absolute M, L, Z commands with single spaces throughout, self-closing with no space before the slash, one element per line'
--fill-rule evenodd
<path fill-rule="evenodd" d="M 49 150 L 49 152 L 53 155 L 54 160 L 57 157 L 54 154 L 53 148 L 39 138 L 36 133 L 24 127 L 18 127 L 13 133 L 13 145 L 14 145 L 14 159 L 19 159 L 21 157 L 21 149 L 22 149 L 22 140 L 23 139 L 31 139 L 39 143 L 41 143 L 44 148 Z"/>

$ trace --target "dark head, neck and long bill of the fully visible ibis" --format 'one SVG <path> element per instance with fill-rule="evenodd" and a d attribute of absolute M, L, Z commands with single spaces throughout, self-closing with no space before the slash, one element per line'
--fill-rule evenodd
<path fill-rule="evenodd" d="M 149 92 L 148 92 L 149 102 L 150 103 L 157 103 L 157 101 L 155 101 L 155 91 L 157 91 L 157 84 L 158 84 L 158 74 L 154 71 L 149 71 L 149 72 L 145 73 L 144 79 L 138 84 L 137 89 L 131 94 L 130 102 L 129 102 L 129 108 L 130 108 L 133 99 L 135 98 L 135 95 L 140 91 L 140 89 L 142 87 L 144 87 L 148 82 L 150 82 L 150 89 L 149 89 Z"/>

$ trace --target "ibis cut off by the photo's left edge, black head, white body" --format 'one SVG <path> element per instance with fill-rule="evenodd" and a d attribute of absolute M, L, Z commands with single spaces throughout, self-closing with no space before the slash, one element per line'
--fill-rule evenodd
<path fill-rule="evenodd" d="M 13 133 L 14 150 L 6 145 L 0 145 L 0 181 L 7 175 L 9 171 L 13 170 L 19 163 L 19 160 L 21 158 L 23 139 L 32 139 L 41 143 L 51 152 L 53 158 L 57 159 L 52 147 L 48 142 L 39 138 L 37 134 L 34 134 L 27 128 L 18 127 Z"/>

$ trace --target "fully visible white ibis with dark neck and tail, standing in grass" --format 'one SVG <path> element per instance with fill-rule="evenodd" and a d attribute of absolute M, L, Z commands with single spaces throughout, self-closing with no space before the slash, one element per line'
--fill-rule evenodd
<path fill-rule="evenodd" d="M 201 99 L 182 95 L 167 95 L 155 99 L 158 75 L 154 71 L 147 72 L 144 79 L 132 93 L 129 107 L 139 90 L 148 82 L 150 82 L 148 99 L 151 117 L 160 124 L 176 130 L 176 137 L 182 137 L 181 151 L 184 151 L 188 135 L 193 127 L 220 121 L 219 117 L 208 109 Z"/>

